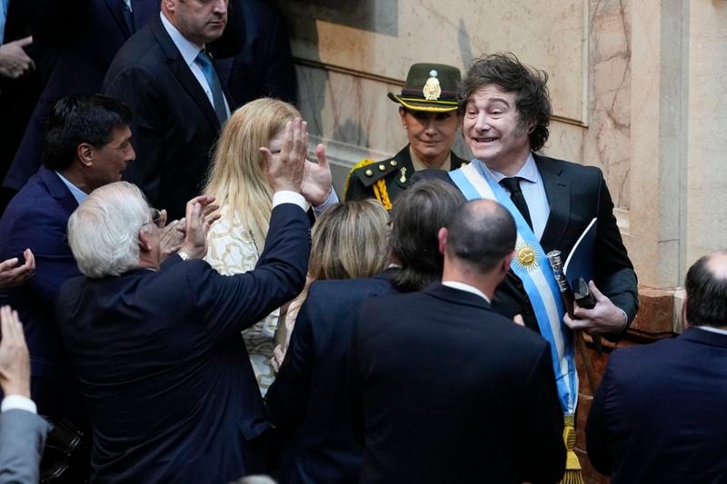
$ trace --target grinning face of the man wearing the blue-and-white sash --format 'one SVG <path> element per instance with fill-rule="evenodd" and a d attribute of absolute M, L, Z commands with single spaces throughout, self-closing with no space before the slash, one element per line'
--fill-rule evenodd
<path fill-rule="evenodd" d="M 523 167 L 532 129 L 532 123 L 521 123 L 515 93 L 506 93 L 496 84 L 484 85 L 467 101 L 464 139 L 474 157 L 492 170 L 512 176 Z"/>

